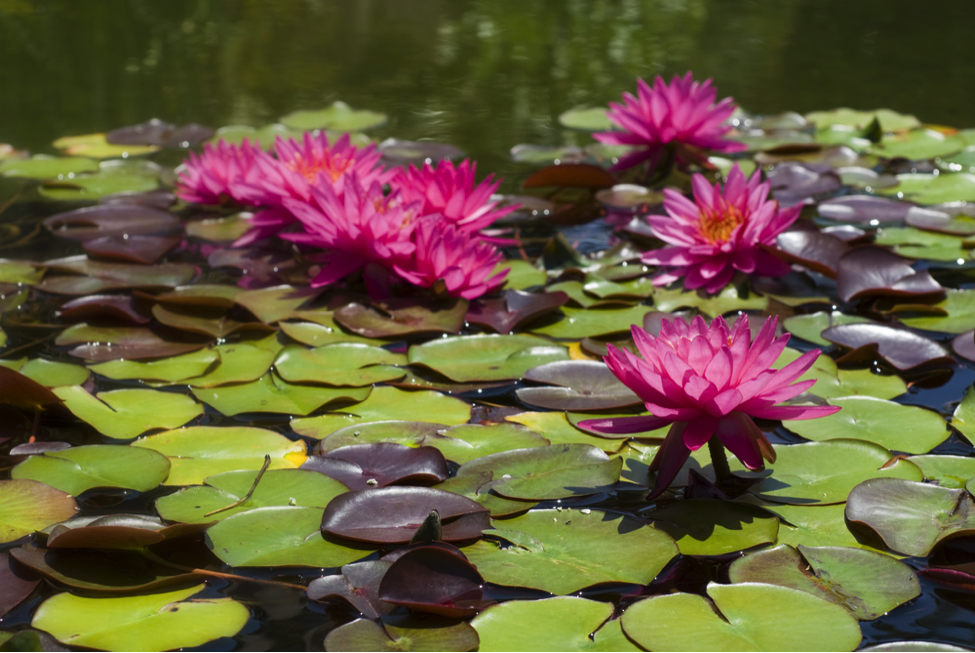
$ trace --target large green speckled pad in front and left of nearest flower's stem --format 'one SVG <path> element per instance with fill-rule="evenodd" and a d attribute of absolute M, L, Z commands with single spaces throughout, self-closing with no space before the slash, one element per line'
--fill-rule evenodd
<path fill-rule="evenodd" d="M 499 525 L 527 533 L 538 544 L 502 549 L 480 540 L 462 549 L 484 579 L 498 585 L 553 594 L 598 583 L 647 585 L 677 555 L 677 545 L 661 531 L 601 510 L 535 510 Z"/>

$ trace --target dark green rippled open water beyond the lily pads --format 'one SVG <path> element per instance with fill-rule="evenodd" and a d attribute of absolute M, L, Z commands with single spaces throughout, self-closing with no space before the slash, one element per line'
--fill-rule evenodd
<path fill-rule="evenodd" d="M 693 70 L 747 110 L 975 126 L 975 2 L 0 0 L 0 142 L 159 117 L 259 126 L 341 99 L 505 172 L 556 117 Z"/>

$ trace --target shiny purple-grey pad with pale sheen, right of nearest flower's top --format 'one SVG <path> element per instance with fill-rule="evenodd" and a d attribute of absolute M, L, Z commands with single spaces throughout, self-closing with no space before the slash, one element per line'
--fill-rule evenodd
<path fill-rule="evenodd" d="M 944 347 L 922 335 L 884 324 L 839 324 L 822 333 L 836 345 L 857 351 L 875 348 L 878 356 L 904 372 L 925 365 L 953 363 Z M 840 362 L 843 362 L 840 359 Z"/>

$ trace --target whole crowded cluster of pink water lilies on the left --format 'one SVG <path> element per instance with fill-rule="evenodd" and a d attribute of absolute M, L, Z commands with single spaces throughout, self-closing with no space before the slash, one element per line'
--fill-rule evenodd
<path fill-rule="evenodd" d="M 190 154 L 177 193 L 258 207 L 235 245 L 277 235 L 320 248 L 315 287 L 361 271 L 373 296 L 399 279 L 465 299 L 498 288 L 507 271 L 494 272 L 501 254 L 479 232 L 514 210 L 491 200 L 500 181 L 475 183 L 468 160 L 386 170 L 379 158 L 375 146 L 357 148 L 348 135 L 334 143 L 322 133 L 301 142 L 278 137 L 273 154 L 246 140 L 221 141 Z"/>

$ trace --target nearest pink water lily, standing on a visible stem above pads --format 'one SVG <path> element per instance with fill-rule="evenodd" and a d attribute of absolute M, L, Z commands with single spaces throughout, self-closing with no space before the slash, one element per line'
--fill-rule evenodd
<path fill-rule="evenodd" d="M 780 406 L 813 386 L 794 383 L 821 353 L 806 352 L 780 370 L 771 365 L 785 349 L 789 335 L 775 338 L 776 318 L 766 320 L 755 341 L 746 316 L 734 327 L 721 318 L 708 326 L 700 316 L 688 324 L 664 320 L 660 335 L 633 326 L 633 340 L 642 358 L 608 345 L 606 365 L 644 401 L 646 417 L 610 417 L 581 422 L 602 433 L 641 433 L 670 425 L 667 437 L 650 464 L 657 473 L 648 498 L 659 496 L 676 478 L 692 451 L 717 437 L 748 469 L 759 469 L 763 458 L 775 462 L 775 451 L 752 421 L 812 419 L 832 415 L 835 406 Z"/>

